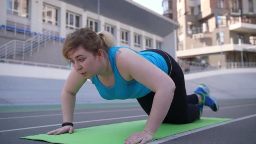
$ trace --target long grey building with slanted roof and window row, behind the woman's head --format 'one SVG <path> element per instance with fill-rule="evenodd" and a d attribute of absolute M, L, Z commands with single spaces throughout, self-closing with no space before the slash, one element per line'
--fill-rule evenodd
<path fill-rule="evenodd" d="M 61 47 L 82 27 L 106 30 L 115 45 L 176 57 L 179 24 L 132 0 L 0 0 L 0 58 L 67 66 Z M 42 64 L 43 65 L 43 64 Z"/>

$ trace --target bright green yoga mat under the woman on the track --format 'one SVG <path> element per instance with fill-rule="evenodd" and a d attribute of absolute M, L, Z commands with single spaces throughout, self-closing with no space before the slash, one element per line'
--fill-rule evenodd
<path fill-rule="evenodd" d="M 230 118 L 208 118 L 201 117 L 193 123 L 173 125 L 163 123 L 155 134 L 153 140 L 161 139 L 177 133 L 202 128 L 207 125 L 221 123 Z M 25 136 L 22 139 L 43 140 L 57 144 L 123 144 L 125 139 L 132 133 L 142 131 L 147 120 L 139 120 L 125 123 L 115 123 L 110 125 L 100 125 L 90 128 L 75 129 L 74 133 L 64 133 L 61 135 L 39 134 L 35 136 Z"/>

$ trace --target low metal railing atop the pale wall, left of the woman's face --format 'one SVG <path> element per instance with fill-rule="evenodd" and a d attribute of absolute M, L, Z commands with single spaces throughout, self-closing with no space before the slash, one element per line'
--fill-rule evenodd
<path fill-rule="evenodd" d="M 31 62 L 31 61 L 19 61 L 14 59 L 0 59 L 2 63 L 8 64 L 22 64 L 22 65 L 29 65 L 29 66 L 36 66 L 36 67 L 51 67 L 51 68 L 58 68 L 58 69 L 71 69 L 68 66 L 56 65 L 56 64 L 45 64 L 39 62 Z"/>

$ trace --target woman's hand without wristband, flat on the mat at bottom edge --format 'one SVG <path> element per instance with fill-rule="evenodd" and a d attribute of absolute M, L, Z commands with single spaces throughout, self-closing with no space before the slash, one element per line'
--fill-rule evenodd
<path fill-rule="evenodd" d="M 125 139 L 125 144 L 137 144 L 139 142 L 140 144 L 145 144 L 147 141 L 152 139 L 153 136 L 151 134 L 141 131 L 133 133 L 131 136 Z"/>

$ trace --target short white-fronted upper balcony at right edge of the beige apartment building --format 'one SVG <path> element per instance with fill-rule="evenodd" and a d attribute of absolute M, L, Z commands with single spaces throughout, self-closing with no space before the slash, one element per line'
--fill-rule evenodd
<path fill-rule="evenodd" d="M 235 32 L 256 33 L 256 24 L 251 23 L 251 19 L 231 17 L 229 21 L 229 30 Z"/>

